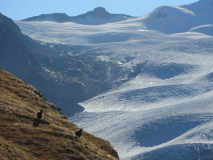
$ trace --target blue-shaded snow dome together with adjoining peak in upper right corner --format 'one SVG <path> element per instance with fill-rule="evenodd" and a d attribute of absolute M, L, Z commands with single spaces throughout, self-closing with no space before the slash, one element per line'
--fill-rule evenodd
<path fill-rule="evenodd" d="M 201 0 L 178 7 L 160 6 L 139 19 L 149 30 L 158 30 L 164 33 L 179 33 L 186 32 L 192 27 L 213 24 L 212 17 L 213 1 Z M 208 34 L 211 34 L 211 31 Z"/>

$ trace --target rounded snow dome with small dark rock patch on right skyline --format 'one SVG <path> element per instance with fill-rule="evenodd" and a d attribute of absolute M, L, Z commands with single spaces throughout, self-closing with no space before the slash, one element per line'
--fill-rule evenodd
<path fill-rule="evenodd" d="M 195 14 L 181 7 L 161 6 L 141 19 L 149 30 L 175 33 L 188 31 L 194 26 Z"/>

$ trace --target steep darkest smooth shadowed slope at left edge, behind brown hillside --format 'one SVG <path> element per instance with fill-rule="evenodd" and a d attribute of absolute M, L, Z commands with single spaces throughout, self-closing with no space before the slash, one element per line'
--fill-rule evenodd
<path fill-rule="evenodd" d="M 39 54 L 40 57 L 44 56 L 48 59 L 45 51 L 31 38 L 23 35 L 19 27 L 2 14 L 0 14 L 0 44 L 2 69 L 41 90 L 48 100 L 60 105 L 60 108 L 66 106 L 69 113 L 83 111 L 83 107 L 63 95 L 55 80 L 42 69 L 41 63 L 34 55 Z"/>

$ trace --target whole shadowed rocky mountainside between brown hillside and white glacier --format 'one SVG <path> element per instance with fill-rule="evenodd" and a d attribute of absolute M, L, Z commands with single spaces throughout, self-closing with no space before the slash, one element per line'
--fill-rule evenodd
<path fill-rule="evenodd" d="M 21 34 L 18 26 L 1 14 L 0 44 L 0 68 L 39 89 L 66 116 L 84 110 L 77 103 L 109 90 L 114 82 L 106 81 L 108 75 L 114 80 L 111 75 L 115 75 L 115 71 L 119 72 L 116 76 L 123 75 L 118 65 L 97 61 L 88 54 L 61 56 L 61 52 L 78 54 L 89 47 L 41 46 Z"/>

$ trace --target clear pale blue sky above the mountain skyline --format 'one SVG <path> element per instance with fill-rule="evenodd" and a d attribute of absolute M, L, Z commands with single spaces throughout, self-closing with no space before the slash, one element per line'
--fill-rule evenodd
<path fill-rule="evenodd" d="M 104 7 L 110 13 L 140 17 L 161 5 L 180 6 L 198 0 L 0 0 L 0 12 L 13 20 L 40 14 L 66 13 L 77 16 Z"/>

